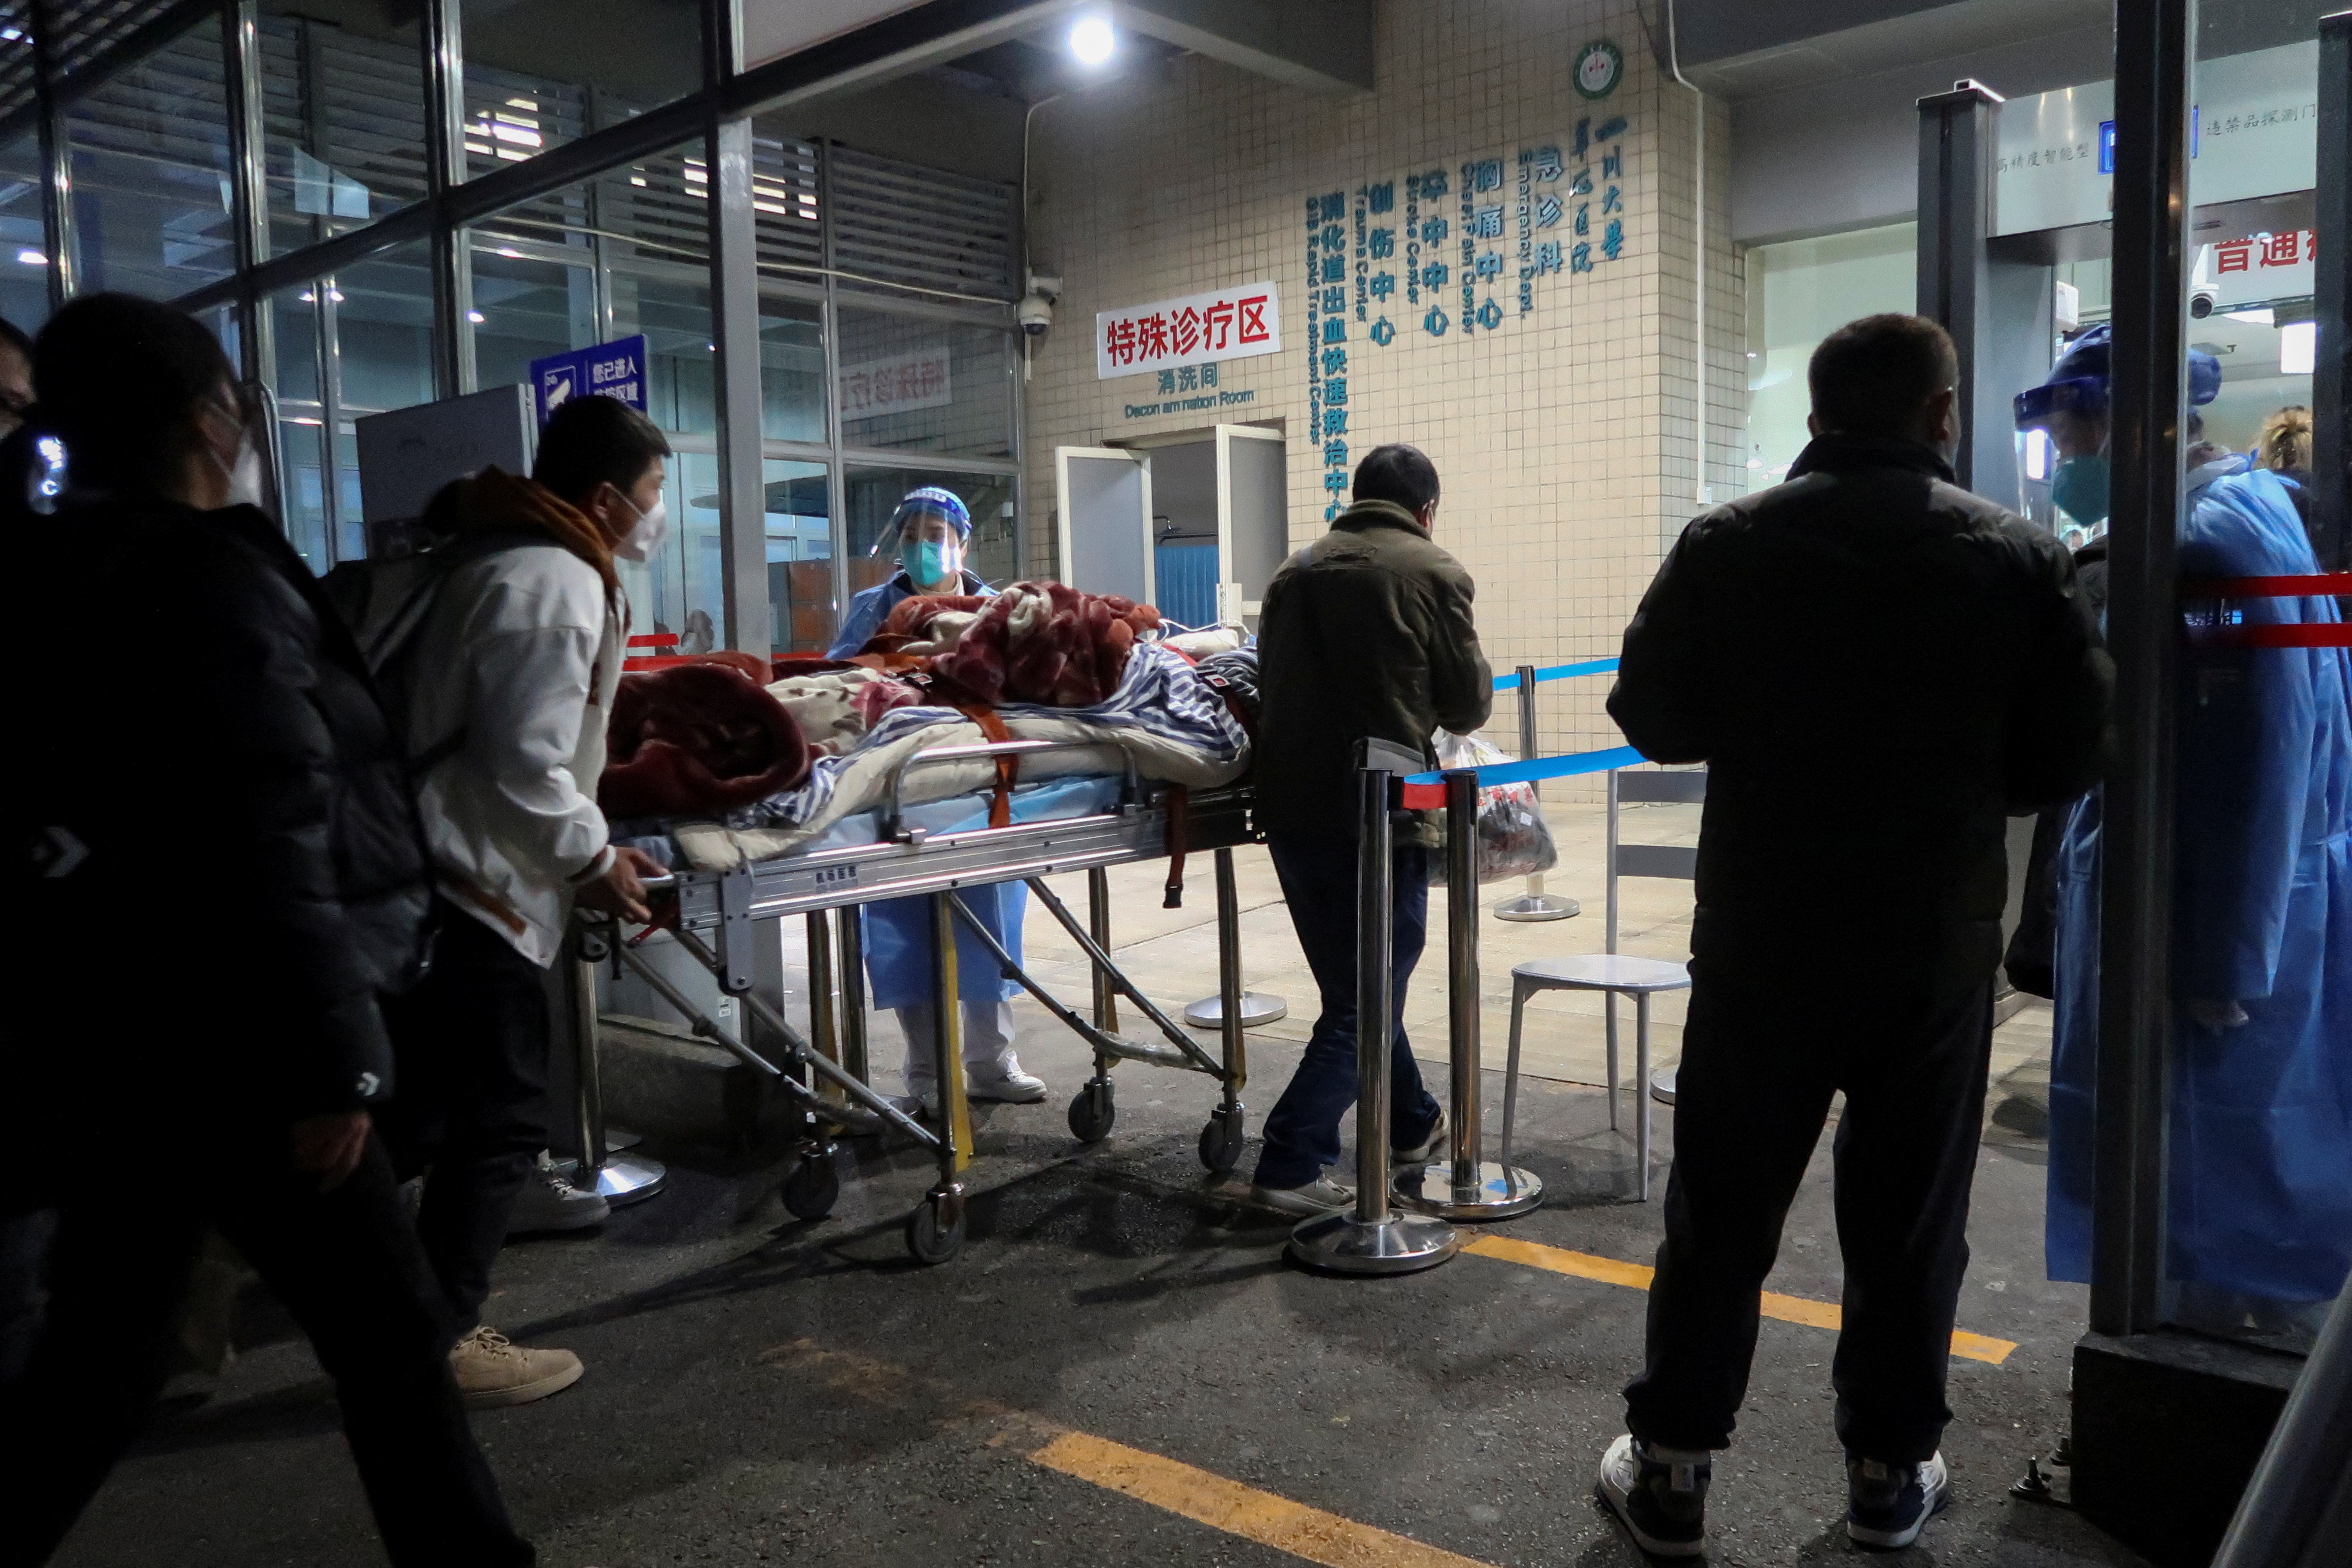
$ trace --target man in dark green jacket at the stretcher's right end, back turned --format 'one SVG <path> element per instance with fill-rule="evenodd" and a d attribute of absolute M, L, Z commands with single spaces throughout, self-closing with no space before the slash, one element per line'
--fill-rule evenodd
<path fill-rule="evenodd" d="M 1430 543 L 1437 468 L 1414 447 L 1376 447 L 1355 470 L 1355 505 L 1294 555 L 1258 616 L 1258 825 L 1282 877 L 1322 1013 L 1289 1088 L 1265 1119 L 1251 1194 L 1312 1215 L 1355 1192 L 1338 1161 L 1338 1119 L 1355 1103 L 1355 743 L 1371 736 L 1435 766 L 1437 729 L 1475 731 L 1494 675 L 1470 623 L 1470 574 Z M 1395 835 L 1390 1112 L 1397 1166 L 1430 1159 L 1444 1112 L 1421 1086 L 1404 1039 L 1404 987 L 1421 959 L 1437 825 Z"/>

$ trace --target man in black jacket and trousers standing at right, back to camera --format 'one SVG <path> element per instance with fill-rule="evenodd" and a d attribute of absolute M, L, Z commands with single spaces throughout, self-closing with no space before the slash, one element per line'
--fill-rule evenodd
<path fill-rule="evenodd" d="M 1846 1530 L 1900 1547 L 1943 1507 L 2002 818 L 2091 788 L 2112 686 L 2058 541 L 1952 482 L 1943 329 L 1851 322 L 1809 381 L 1788 484 L 1684 529 L 1609 696 L 1644 757 L 1708 764 L 1649 1354 L 1602 1460 L 1602 1495 L 1670 1556 L 1703 1549 L 1708 1455 L 1837 1091 Z"/>

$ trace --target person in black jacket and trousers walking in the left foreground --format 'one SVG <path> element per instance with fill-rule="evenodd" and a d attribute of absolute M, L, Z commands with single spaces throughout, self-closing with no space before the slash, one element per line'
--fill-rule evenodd
<path fill-rule="evenodd" d="M 426 957 L 423 835 L 348 632 L 254 505 L 219 343 L 120 294 L 38 343 L 54 515 L 7 517 L 59 649 L 19 693 L 9 778 L 24 1011 L 7 1194 L 56 1211 L 49 1302 L 0 1387 L 0 1566 L 40 1563 L 162 1387 L 219 1227 L 310 1335 L 386 1552 L 529 1563 L 449 1373 L 454 1324 L 369 1107 L 379 997 Z M 24 458 L 24 444 L 14 449 Z M 120 632 L 89 637 L 80 607 Z M 31 1182 L 31 1190 L 26 1187 Z"/>

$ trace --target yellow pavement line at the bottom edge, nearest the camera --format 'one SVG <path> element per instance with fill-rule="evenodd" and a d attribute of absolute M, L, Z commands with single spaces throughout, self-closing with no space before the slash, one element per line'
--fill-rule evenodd
<path fill-rule="evenodd" d="M 1030 1462 L 1324 1568 L 1486 1568 L 1475 1556 L 1425 1547 L 1084 1432 L 1063 1432 Z"/>

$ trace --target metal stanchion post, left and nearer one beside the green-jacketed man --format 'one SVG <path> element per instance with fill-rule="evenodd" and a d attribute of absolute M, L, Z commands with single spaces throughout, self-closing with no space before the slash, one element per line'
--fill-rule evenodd
<path fill-rule="evenodd" d="M 1395 858 L 1390 797 L 1397 748 L 1359 743 L 1355 872 L 1355 1213 L 1327 1213 L 1291 1229 L 1298 1262 L 1341 1274 L 1409 1274 L 1461 1248 L 1444 1220 L 1388 1211 L 1388 1058 L 1395 1051 Z M 1385 752 L 1385 757 L 1383 757 Z"/>

